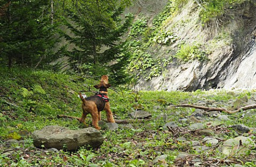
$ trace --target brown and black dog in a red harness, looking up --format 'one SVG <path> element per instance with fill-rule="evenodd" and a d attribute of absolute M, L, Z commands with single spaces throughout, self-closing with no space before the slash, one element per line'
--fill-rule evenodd
<path fill-rule="evenodd" d="M 82 100 L 83 114 L 79 121 L 85 124 L 85 118 L 87 114 L 92 115 L 92 126 L 95 129 L 100 130 L 98 121 L 101 119 L 101 111 L 105 110 L 107 112 L 108 122 L 115 122 L 113 114 L 110 110 L 109 99 L 108 99 L 108 89 L 111 85 L 108 84 L 108 76 L 102 76 L 99 85 L 95 85 L 94 88 L 100 89 L 97 94 L 87 98 L 83 98 L 82 94 L 79 96 Z"/>

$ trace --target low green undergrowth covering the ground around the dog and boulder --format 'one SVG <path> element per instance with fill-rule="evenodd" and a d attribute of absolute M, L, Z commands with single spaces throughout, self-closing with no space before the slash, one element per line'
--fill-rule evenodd
<path fill-rule="evenodd" d="M 181 91 L 139 91 L 134 92 L 120 87 L 119 93 L 109 89 L 110 107 L 115 119 L 130 119 L 129 113 L 136 108 L 151 113 L 152 118 L 129 125 L 119 124 L 116 131 L 101 130 L 105 138 L 98 149 L 81 148 L 77 152 L 60 151 L 42 152 L 33 147 L 29 134 L 45 126 L 58 125 L 69 129 L 81 129 L 85 126 L 77 120 L 57 118 L 58 114 L 81 116 L 81 100 L 77 97 L 79 90 L 93 87 L 97 80 L 85 79 L 76 75 L 66 75 L 51 71 L 33 71 L 29 69 L 1 69 L 0 71 L 0 164 L 1 166 L 161 166 L 153 160 L 166 154 L 167 166 L 175 166 L 175 158 L 181 151 L 201 155 L 189 145 L 177 142 L 168 131 L 163 130 L 166 122 L 174 121 L 179 126 L 179 119 L 188 118 L 195 108 L 172 107 L 178 104 L 196 104 L 204 101 L 214 102 L 221 106 L 235 99 L 254 98 L 253 91 L 197 90 Z M 109 79 L 111 83 L 111 78 Z M 93 89 L 95 90 L 95 89 Z M 93 93 L 86 93 L 88 96 Z M 166 116 L 164 116 L 166 115 Z M 102 112 L 102 119 L 106 118 Z M 232 118 L 232 116 L 230 116 Z M 234 114 L 234 120 L 226 121 L 225 126 L 242 123 L 255 127 L 255 116 L 243 113 Z M 91 116 L 87 116 L 91 124 Z M 127 127 L 126 127 L 127 126 Z M 234 132 L 226 137 L 236 136 Z M 184 135 L 188 140 L 203 136 Z M 5 155 L 4 145 L 8 139 L 24 140 L 25 143 L 12 144 L 15 153 Z M 221 158 L 213 151 L 207 156 Z M 223 157 L 222 157 L 223 158 Z M 243 162 L 244 163 L 244 162 Z M 249 162 L 248 162 L 249 163 Z M 248 164 L 247 163 L 247 164 Z M 252 162 L 253 164 L 253 162 Z"/>

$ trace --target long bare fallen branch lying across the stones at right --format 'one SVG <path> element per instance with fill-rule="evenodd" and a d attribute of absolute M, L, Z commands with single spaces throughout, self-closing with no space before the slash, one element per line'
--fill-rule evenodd
<path fill-rule="evenodd" d="M 225 108 L 220 108 L 220 107 L 205 107 L 205 106 L 190 105 L 190 104 L 175 105 L 174 107 L 192 107 L 192 108 L 198 108 L 198 109 L 205 110 L 206 112 L 209 112 L 209 111 L 221 111 L 221 112 L 225 112 L 225 113 L 228 113 L 228 114 L 233 114 L 233 113 L 237 113 L 239 111 L 245 111 L 245 110 L 254 109 L 254 108 L 256 108 L 256 104 L 246 105 L 244 107 L 238 108 L 235 111 L 228 111 Z"/>

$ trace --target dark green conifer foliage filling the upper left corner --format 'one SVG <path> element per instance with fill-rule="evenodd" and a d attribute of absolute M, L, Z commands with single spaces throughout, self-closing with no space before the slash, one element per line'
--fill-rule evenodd
<path fill-rule="evenodd" d="M 58 41 L 58 23 L 51 24 L 50 2 L 10 2 L 0 17 L 0 63 L 34 67 L 57 59 L 52 47 Z M 0 1 L 0 6 L 5 4 Z"/>

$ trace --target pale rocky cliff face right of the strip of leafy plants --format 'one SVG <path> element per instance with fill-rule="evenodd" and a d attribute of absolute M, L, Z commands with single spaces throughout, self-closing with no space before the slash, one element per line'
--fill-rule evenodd
<path fill-rule="evenodd" d="M 144 5 L 147 9 L 146 5 L 150 6 L 150 1 Z M 199 42 L 211 51 L 210 60 L 187 63 L 173 61 L 161 76 L 151 80 L 139 79 L 136 89 L 193 91 L 211 88 L 256 88 L 255 2 L 233 6 L 228 14 L 212 20 L 208 26 L 198 23 L 199 11 L 200 7 L 194 1 L 184 5 L 165 26 L 166 30 L 177 34 L 179 40 L 172 46 L 151 50 L 154 56 L 164 58 L 173 54 L 167 54 L 167 49 L 177 48 L 181 41 L 190 44 Z"/>

